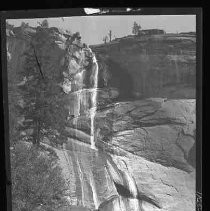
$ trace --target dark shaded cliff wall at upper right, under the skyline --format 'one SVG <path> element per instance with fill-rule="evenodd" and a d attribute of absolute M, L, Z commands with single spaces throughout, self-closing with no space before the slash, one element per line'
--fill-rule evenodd
<path fill-rule="evenodd" d="M 129 96 L 136 99 L 195 98 L 195 39 L 184 35 L 125 37 L 91 47 L 107 57 L 109 84 L 123 84 L 122 96 L 129 90 Z"/>

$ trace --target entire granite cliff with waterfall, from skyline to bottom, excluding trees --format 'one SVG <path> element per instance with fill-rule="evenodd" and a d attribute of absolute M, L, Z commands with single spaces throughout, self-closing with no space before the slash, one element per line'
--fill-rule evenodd
<path fill-rule="evenodd" d="M 53 149 L 72 209 L 195 210 L 195 99 L 184 99 L 194 98 L 194 38 L 92 49 L 56 28 L 16 28 L 7 38 L 9 76 L 37 39 L 43 73 L 60 76 L 68 140 Z"/>

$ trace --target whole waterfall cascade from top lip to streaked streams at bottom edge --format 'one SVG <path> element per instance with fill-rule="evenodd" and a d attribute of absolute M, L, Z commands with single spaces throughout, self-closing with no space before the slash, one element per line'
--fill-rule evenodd
<path fill-rule="evenodd" d="M 90 66 L 76 72 L 69 89 L 71 90 L 69 93 L 71 97 L 70 115 L 73 115 L 74 128 L 68 128 L 68 132 L 75 139 L 68 139 L 69 144 L 66 149 L 69 150 L 68 155 L 75 165 L 77 199 L 79 205 L 82 206 L 90 206 L 90 200 L 92 200 L 95 209 L 98 209 L 99 205 L 105 201 L 107 205 L 103 205 L 102 210 L 138 211 L 138 199 L 121 197 L 113 183 L 113 181 L 117 181 L 121 185 L 126 185 L 132 195 L 131 197 L 136 197 L 137 187 L 132 177 L 127 172 L 119 171 L 117 166 L 113 167 L 113 163 L 110 164 L 106 156 L 103 156 L 102 152 L 98 153 L 96 149 L 95 116 L 98 100 L 98 63 L 92 50 L 90 48 L 86 50 L 91 55 Z M 70 63 L 72 63 L 71 60 Z M 87 71 L 89 71 L 89 74 L 86 74 Z M 78 120 L 81 116 L 90 118 L 90 135 L 81 131 L 78 127 Z M 107 165 L 107 167 L 104 168 L 103 165 Z M 103 193 L 100 193 L 100 185 L 106 187 L 105 192 L 103 189 Z M 113 195 L 118 197 L 114 199 L 112 198 Z"/>

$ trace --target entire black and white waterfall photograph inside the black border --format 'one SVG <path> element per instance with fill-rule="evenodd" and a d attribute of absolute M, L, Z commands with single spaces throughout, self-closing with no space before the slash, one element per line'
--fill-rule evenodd
<path fill-rule="evenodd" d="M 85 11 L 5 20 L 12 211 L 201 210 L 196 14 Z"/>

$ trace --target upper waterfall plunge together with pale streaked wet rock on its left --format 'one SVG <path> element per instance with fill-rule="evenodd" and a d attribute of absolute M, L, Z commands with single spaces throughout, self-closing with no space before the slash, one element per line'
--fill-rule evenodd
<path fill-rule="evenodd" d="M 85 70 L 81 70 L 78 71 L 74 78 L 73 78 L 73 82 L 71 82 L 69 85 L 71 88 L 66 89 L 69 90 L 67 91 L 70 92 L 72 90 L 72 92 L 70 92 L 70 95 L 74 95 L 73 101 L 74 101 L 74 106 L 73 106 L 73 110 L 70 111 L 70 114 L 73 114 L 74 116 L 74 125 L 77 128 L 77 119 L 79 116 L 81 115 L 86 115 L 87 113 L 89 113 L 90 116 L 90 121 L 91 121 L 91 125 L 90 125 L 90 144 L 91 144 L 91 148 L 92 149 L 96 149 L 95 147 L 95 126 L 94 126 L 94 120 L 95 120 L 95 115 L 96 115 L 96 110 L 97 110 L 97 93 L 98 93 L 98 63 L 96 60 L 96 56 L 95 54 L 92 52 L 92 50 L 90 48 L 87 48 L 87 51 L 89 51 L 89 53 L 91 54 L 91 75 L 89 80 L 89 83 L 91 85 L 90 88 L 88 89 L 84 89 L 83 87 L 86 85 L 84 84 L 85 82 Z M 72 61 L 74 60 L 70 60 L 71 64 L 74 64 Z M 71 65 L 70 65 L 71 66 Z M 69 70 L 69 72 L 71 71 L 71 69 Z M 90 100 L 89 100 L 90 98 Z M 89 103 L 90 101 L 90 103 Z M 70 102 L 72 104 L 72 102 Z M 71 106 L 70 106 L 71 109 Z"/>

